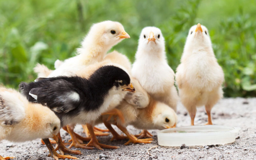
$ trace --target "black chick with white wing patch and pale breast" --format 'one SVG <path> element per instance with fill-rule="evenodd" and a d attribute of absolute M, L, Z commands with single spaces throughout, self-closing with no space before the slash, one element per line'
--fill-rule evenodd
<path fill-rule="evenodd" d="M 23 82 L 19 87 L 29 101 L 45 104 L 55 112 L 61 127 L 70 125 L 70 128 L 67 126 L 70 134 L 75 124 L 91 123 L 105 112 L 113 95 L 135 92 L 128 73 L 113 65 L 100 67 L 88 79 L 78 76 L 39 78 L 29 84 Z M 74 136 L 71 134 L 71 137 Z M 50 145 L 50 142 L 45 144 Z"/>

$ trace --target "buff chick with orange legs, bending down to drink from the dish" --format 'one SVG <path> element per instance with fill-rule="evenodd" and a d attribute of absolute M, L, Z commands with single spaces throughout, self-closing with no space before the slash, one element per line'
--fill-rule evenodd
<path fill-rule="evenodd" d="M 131 95 L 128 93 L 125 100 L 117 107 L 124 116 L 124 122 L 120 117 L 115 117 L 116 120 L 111 118 L 111 120 L 108 121 L 108 116 L 106 115 L 102 117 L 102 121 L 113 134 L 111 140 L 128 138 L 129 141 L 125 143 L 125 145 L 129 143 L 150 143 L 151 140 L 153 140 L 152 138 L 138 139 L 127 131 L 126 126 L 133 125 L 135 128 L 144 130 L 162 130 L 175 126 L 177 123 L 177 115 L 171 107 L 150 97 L 136 79 L 132 79 L 132 83 L 136 88 L 136 93 L 132 95 L 133 100 L 131 100 Z M 109 123 L 116 124 L 127 137 L 120 136 Z"/>

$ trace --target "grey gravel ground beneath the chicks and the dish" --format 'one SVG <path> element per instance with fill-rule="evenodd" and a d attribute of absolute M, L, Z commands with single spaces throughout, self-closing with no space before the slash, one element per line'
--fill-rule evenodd
<path fill-rule="evenodd" d="M 223 99 L 219 101 L 212 109 L 212 119 L 214 124 L 237 126 L 241 130 L 238 133 L 238 139 L 232 144 L 215 145 L 215 146 L 193 146 L 189 148 L 180 149 L 180 147 L 163 147 L 158 146 L 147 154 L 147 150 L 157 143 L 157 130 L 151 130 L 155 139 L 151 144 L 130 144 L 123 145 L 126 140 L 109 142 L 111 135 L 99 137 L 99 141 L 103 144 L 116 145 L 119 149 L 109 150 L 105 149 L 100 151 L 94 150 L 81 150 L 83 155 L 75 155 L 81 160 L 139 160 L 139 159 L 200 159 L 200 160 L 218 160 L 218 159 L 256 159 L 256 98 L 243 99 Z M 178 124 L 177 126 L 190 125 L 190 117 L 184 107 L 179 104 L 178 106 Z M 202 125 L 207 121 L 207 115 L 204 108 L 201 107 L 197 110 L 195 117 L 195 124 Z M 98 125 L 100 128 L 105 128 L 103 124 Z M 79 134 L 82 133 L 81 125 L 77 125 L 75 131 Z M 140 131 L 132 126 L 128 126 L 128 131 L 133 134 L 138 134 Z M 118 130 L 119 133 L 121 133 Z M 70 138 L 65 131 L 61 131 L 64 140 Z M 0 155 L 2 156 L 15 156 L 17 159 L 28 160 L 53 160 L 47 157 L 48 150 L 46 146 L 42 145 L 40 140 L 34 140 L 26 143 L 10 143 L 2 141 L 0 143 Z M 74 148 L 73 148 L 74 149 Z"/>

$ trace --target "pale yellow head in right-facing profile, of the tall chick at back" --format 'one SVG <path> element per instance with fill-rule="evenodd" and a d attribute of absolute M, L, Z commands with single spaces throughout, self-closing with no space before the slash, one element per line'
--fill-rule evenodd
<path fill-rule="evenodd" d="M 123 25 L 114 21 L 103 21 L 94 24 L 87 37 L 93 37 L 97 42 L 112 47 L 124 38 L 130 38 Z"/>

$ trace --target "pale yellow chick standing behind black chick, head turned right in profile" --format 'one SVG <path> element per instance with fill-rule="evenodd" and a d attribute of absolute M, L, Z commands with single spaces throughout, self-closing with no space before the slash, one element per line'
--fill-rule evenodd
<path fill-rule="evenodd" d="M 102 61 L 107 51 L 124 38 L 130 38 L 119 22 L 103 21 L 94 24 L 77 49 L 77 56 L 58 63 L 58 68 L 48 77 L 69 76 L 78 70 L 79 66 Z"/>

